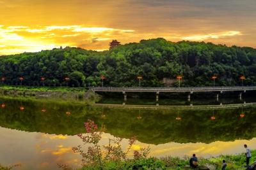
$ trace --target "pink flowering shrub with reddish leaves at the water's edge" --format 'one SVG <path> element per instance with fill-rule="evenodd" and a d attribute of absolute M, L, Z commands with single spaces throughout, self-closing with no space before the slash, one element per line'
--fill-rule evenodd
<path fill-rule="evenodd" d="M 74 153 L 79 153 L 82 157 L 82 166 L 102 167 L 106 162 L 115 162 L 121 164 L 127 161 L 127 155 L 131 152 L 132 145 L 136 142 L 136 138 L 129 139 L 127 150 L 122 149 L 122 138 L 109 139 L 108 145 L 100 146 L 99 141 L 102 139 L 102 132 L 98 130 L 97 124 L 92 120 L 84 123 L 86 134 L 77 134 L 84 144 L 91 144 L 88 150 L 84 152 L 81 145 L 72 148 Z M 141 148 L 139 151 L 134 151 L 134 159 L 146 158 L 150 149 Z M 104 154 L 103 154 L 104 153 Z"/>

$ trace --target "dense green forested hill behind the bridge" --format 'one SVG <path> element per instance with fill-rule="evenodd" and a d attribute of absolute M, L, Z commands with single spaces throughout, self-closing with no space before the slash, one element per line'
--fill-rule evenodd
<path fill-rule="evenodd" d="M 45 50 L 0 57 L 0 77 L 4 83 L 42 85 L 68 85 L 75 87 L 138 86 L 137 76 L 143 76 L 141 86 L 177 86 L 176 76 L 182 75 L 182 86 L 244 85 L 256 83 L 256 49 L 228 47 L 212 43 L 180 41 L 173 43 L 163 38 L 141 40 L 140 43 L 120 45 L 113 50 L 95 52 L 81 48 Z"/>

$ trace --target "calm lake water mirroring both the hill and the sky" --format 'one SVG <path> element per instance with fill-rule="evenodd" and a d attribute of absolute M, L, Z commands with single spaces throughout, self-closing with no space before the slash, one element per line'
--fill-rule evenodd
<path fill-rule="evenodd" d="M 172 100 L 161 102 L 172 103 Z M 122 144 L 126 148 L 128 139 L 136 136 L 138 143 L 133 148 L 150 146 L 150 154 L 156 157 L 241 153 L 244 143 L 256 149 L 255 108 L 124 110 L 88 107 L 82 103 L 0 98 L 2 103 L 0 163 L 22 164 L 17 169 L 58 169 L 58 163 L 79 167 L 80 157 L 72 153 L 72 147 L 82 144 L 76 134 L 84 132 L 83 123 L 88 119 L 104 131 L 102 145 L 115 136 L 124 138 Z"/>

